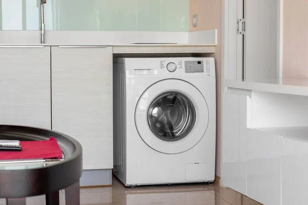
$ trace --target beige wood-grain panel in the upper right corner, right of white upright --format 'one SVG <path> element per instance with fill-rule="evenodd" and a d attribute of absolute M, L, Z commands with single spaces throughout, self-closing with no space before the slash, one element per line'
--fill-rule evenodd
<path fill-rule="evenodd" d="M 283 84 L 301 85 L 298 78 L 308 78 L 307 23 L 307 0 L 283 0 Z"/>

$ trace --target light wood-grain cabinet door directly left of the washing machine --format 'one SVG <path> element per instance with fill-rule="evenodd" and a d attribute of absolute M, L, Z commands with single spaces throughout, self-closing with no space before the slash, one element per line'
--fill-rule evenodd
<path fill-rule="evenodd" d="M 77 139 L 83 169 L 112 169 L 112 47 L 51 48 L 52 129 Z"/>

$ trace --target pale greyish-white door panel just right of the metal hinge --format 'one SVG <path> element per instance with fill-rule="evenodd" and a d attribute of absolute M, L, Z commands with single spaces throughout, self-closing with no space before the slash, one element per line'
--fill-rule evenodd
<path fill-rule="evenodd" d="M 244 0 L 244 81 L 279 84 L 281 0 Z"/>

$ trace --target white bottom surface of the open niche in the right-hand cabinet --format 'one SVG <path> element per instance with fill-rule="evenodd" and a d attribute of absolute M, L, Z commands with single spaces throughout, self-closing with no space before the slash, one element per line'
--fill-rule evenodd
<path fill-rule="evenodd" d="M 292 138 L 300 141 L 308 142 L 308 126 L 306 127 L 277 127 L 277 128 L 254 128 L 281 137 Z"/>

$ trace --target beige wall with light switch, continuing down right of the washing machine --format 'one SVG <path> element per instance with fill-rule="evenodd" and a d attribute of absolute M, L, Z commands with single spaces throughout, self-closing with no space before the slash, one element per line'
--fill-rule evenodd
<path fill-rule="evenodd" d="M 306 1 L 306 0 L 304 0 Z M 217 80 L 217 136 L 216 136 L 216 175 L 220 176 L 220 116 L 221 116 L 221 10 L 222 0 L 190 0 L 190 31 L 218 29 L 216 47 L 216 80 Z M 198 27 L 192 27 L 192 15 L 198 14 Z"/>

